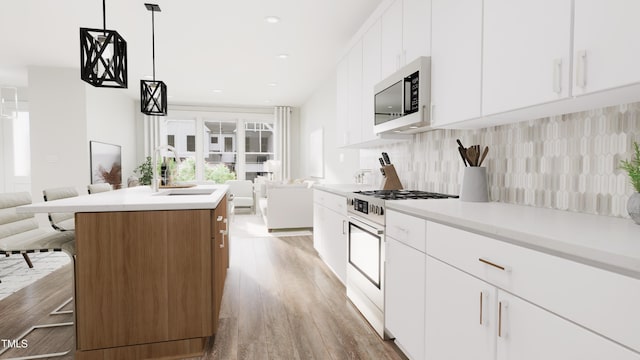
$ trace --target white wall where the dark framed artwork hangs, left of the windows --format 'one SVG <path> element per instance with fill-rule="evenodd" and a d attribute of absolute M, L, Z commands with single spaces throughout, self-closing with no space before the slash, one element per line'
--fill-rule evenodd
<path fill-rule="evenodd" d="M 121 89 L 85 86 L 86 142 L 88 144 L 89 141 L 100 141 L 120 145 L 124 187 L 127 184 L 127 178 L 133 175 L 133 170 L 138 166 L 136 121 L 140 120 L 135 116 L 135 101 Z"/>

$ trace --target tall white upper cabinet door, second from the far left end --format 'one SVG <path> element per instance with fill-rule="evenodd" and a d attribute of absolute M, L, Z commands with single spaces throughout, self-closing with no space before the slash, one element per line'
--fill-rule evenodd
<path fill-rule="evenodd" d="M 349 51 L 349 144 L 362 141 L 362 41 Z"/>

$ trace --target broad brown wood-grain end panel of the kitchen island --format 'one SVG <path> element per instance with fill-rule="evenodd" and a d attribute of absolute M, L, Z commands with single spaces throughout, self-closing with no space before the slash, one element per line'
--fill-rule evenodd
<path fill-rule="evenodd" d="M 76 214 L 79 351 L 211 336 L 210 210 Z"/>

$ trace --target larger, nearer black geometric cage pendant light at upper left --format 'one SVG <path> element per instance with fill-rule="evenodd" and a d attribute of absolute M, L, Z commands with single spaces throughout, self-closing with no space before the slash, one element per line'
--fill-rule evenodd
<path fill-rule="evenodd" d="M 127 88 L 127 42 L 107 30 L 105 0 L 102 29 L 80 28 L 80 78 L 95 87 Z"/>

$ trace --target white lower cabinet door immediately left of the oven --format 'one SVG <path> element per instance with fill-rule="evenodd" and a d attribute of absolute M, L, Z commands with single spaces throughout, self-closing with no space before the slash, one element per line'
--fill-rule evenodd
<path fill-rule="evenodd" d="M 347 283 L 347 218 L 335 211 L 324 209 L 323 233 L 324 261 L 343 284 Z"/>

